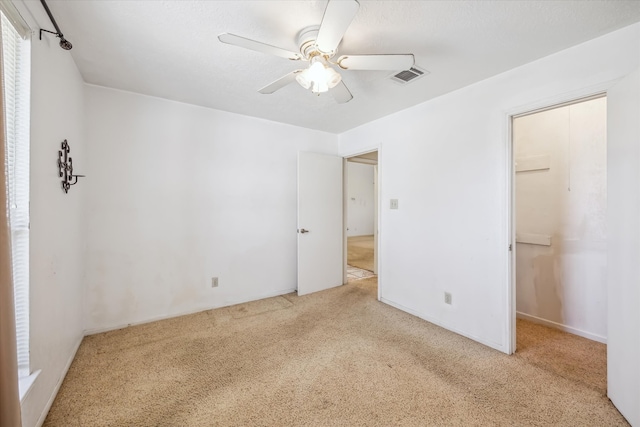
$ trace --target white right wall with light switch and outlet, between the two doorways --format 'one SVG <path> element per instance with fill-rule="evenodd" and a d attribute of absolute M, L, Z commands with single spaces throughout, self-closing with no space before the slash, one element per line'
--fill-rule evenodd
<path fill-rule="evenodd" d="M 625 76 L 639 43 L 636 24 L 340 135 L 345 155 L 381 144 L 383 301 L 511 351 L 508 114 Z"/>

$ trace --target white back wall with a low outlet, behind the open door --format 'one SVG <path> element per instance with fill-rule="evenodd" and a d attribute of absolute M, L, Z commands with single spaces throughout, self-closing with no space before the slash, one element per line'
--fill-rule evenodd
<path fill-rule="evenodd" d="M 337 154 L 335 135 L 95 86 L 85 99 L 89 332 L 295 290 L 297 152 Z"/>

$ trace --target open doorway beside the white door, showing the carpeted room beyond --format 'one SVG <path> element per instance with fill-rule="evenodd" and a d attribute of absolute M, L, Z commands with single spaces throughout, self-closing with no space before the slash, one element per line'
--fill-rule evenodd
<path fill-rule="evenodd" d="M 378 151 L 345 158 L 345 282 L 376 277 Z"/>

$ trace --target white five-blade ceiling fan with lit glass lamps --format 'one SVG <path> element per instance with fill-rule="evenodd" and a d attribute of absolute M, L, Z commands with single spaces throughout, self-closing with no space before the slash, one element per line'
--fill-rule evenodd
<path fill-rule="evenodd" d="M 304 28 L 298 34 L 300 53 L 235 34 L 220 34 L 218 39 L 222 43 L 280 56 L 292 61 L 309 62 L 307 68 L 294 70 L 258 92 L 271 94 L 297 81 L 303 88 L 310 89 L 316 94 L 332 89 L 331 94 L 338 103 L 342 104 L 353 99 L 353 95 L 342 81 L 342 76 L 332 65 L 341 70 L 402 71 L 410 69 L 414 64 L 412 54 L 342 55 L 334 60 L 338 52 L 338 45 L 358 13 L 359 7 L 360 4 L 356 0 L 329 0 L 320 25 Z"/>

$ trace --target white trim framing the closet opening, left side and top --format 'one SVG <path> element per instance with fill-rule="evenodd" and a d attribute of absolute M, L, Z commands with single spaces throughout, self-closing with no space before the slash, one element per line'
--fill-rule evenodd
<path fill-rule="evenodd" d="M 615 85 L 619 80 L 620 79 L 615 79 L 581 90 L 539 100 L 504 112 L 503 140 L 505 141 L 504 153 L 506 163 L 506 189 L 504 194 L 506 206 L 503 212 L 506 212 L 506 216 L 503 221 L 505 226 L 505 240 L 503 241 L 506 242 L 506 289 L 504 292 L 504 301 L 507 307 L 507 310 L 505 310 L 506 318 L 504 319 L 504 342 L 506 343 L 505 352 L 507 354 L 513 354 L 516 351 L 516 173 L 515 159 L 513 157 L 513 119 L 546 110 L 552 110 L 565 105 L 588 101 L 589 99 L 600 98 L 603 96 L 606 97 L 607 90 L 611 86 Z"/>

